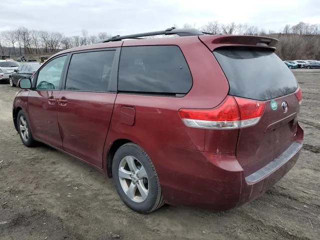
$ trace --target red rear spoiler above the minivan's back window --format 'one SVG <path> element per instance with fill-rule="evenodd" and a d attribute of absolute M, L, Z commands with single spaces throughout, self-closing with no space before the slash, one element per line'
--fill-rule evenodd
<path fill-rule="evenodd" d="M 275 50 L 278 42 L 278 39 L 266 36 L 201 35 L 198 37 L 211 51 L 217 47 L 231 45 L 267 47 Z"/>

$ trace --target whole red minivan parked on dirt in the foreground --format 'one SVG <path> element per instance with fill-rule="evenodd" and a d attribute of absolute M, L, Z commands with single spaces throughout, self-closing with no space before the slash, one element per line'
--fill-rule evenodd
<path fill-rule="evenodd" d="M 141 39 L 158 34 L 177 36 Z M 19 80 L 14 126 L 26 146 L 44 142 L 113 177 L 135 211 L 234 208 L 302 146 L 301 89 L 276 43 L 172 27 L 63 50 Z"/>

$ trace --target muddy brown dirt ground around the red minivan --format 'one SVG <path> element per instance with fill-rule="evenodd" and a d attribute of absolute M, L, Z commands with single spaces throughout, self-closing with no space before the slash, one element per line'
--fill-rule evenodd
<path fill-rule="evenodd" d="M 265 194 L 225 212 L 133 212 L 112 179 L 50 147 L 22 145 L 11 117 L 17 88 L 0 84 L 0 239 L 319 239 L 320 70 L 293 72 L 303 91 L 301 156 Z"/>

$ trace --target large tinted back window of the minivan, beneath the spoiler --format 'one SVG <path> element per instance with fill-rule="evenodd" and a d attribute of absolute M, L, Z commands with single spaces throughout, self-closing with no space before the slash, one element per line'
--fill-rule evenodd
<path fill-rule="evenodd" d="M 213 54 L 229 82 L 230 95 L 269 100 L 297 88 L 291 70 L 271 50 L 220 48 Z"/>

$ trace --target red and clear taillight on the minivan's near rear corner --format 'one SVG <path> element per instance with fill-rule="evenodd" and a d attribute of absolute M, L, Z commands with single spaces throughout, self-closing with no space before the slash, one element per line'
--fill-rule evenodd
<path fill-rule="evenodd" d="M 179 115 L 186 126 L 207 129 L 234 129 L 256 124 L 265 103 L 251 99 L 227 96 L 212 109 L 180 109 Z"/>

